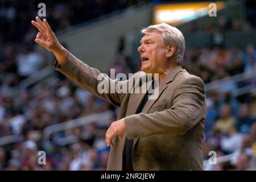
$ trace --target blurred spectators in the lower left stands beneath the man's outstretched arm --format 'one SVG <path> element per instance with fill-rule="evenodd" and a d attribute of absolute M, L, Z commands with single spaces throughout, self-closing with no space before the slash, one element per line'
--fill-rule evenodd
<path fill-rule="evenodd" d="M 16 72 L 8 72 L 8 74 L 2 72 L 5 76 L 1 80 L 0 138 L 15 135 L 16 140 L 14 143 L 0 147 L 0 169 L 105 169 L 109 154 L 109 148 L 105 144 L 105 132 L 108 125 L 92 123 L 61 131 L 51 136 L 53 137 L 52 143 L 49 143 L 47 147 L 43 146 L 42 133 L 47 126 L 115 108 L 108 102 L 78 88 L 67 78 L 59 78 L 59 75 L 51 78 L 52 85 L 57 86 L 43 88 L 36 96 L 32 96 L 28 89 L 19 88 L 20 92 L 17 97 L 3 97 L 3 93 L 10 92 L 15 85 L 19 85 L 19 80 L 28 76 L 19 72 L 21 69 L 19 59 L 22 56 L 19 54 L 15 56 L 14 52 L 12 56 L 14 56 L 14 65 L 18 68 Z M 39 57 L 42 55 L 31 56 L 32 62 L 39 63 Z M 44 61 L 43 58 L 42 61 Z M 63 147 L 55 142 L 59 138 L 69 136 L 75 136 L 77 142 Z M 38 151 L 40 150 L 46 151 L 47 165 L 38 165 Z"/>

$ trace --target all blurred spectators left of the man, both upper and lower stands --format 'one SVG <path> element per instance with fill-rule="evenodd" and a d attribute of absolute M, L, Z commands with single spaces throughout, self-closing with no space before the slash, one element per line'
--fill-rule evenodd
<path fill-rule="evenodd" d="M 54 32 L 100 18 L 142 1 L 44 1 Z M 109 155 L 108 126 L 93 123 L 57 133 L 43 146 L 47 126 L 115 110 L 115 107 L 78 88 L 56 73 L 51 84 L 35 97 L 20 83 L 48 64 L 34 45 L 37 30 L 30 23 L 39 1 L 3 1 L 0 6 L 0 138 L 15 135 L 17 142 L 0 146 L 0 170 L 104 170 Z M 52 63 L 51 63 L 52 64 Z M 5 93 L 20 89 L 18 96 Z M 114 113 L 114 112 L 113 112 Z M 114 118 L 112 119 L 114 121 Z M 111 122 L 111 121 L 109 121 Z M 77 142 L 59 146 L 55 140 L 75 136 Z M 46 151 L 46 165 L 38 165 L 38 151 Z"/>

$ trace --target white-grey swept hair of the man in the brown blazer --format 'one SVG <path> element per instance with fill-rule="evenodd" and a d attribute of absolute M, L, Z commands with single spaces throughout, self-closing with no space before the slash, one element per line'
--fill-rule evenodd
<path fill-rule="evenodd" d="M 160 23 L 144 28 L 141 32 L 147 34 L 152 31 L 158 31 L 162 35 L 165 46 L 175 46 L 174 57 L 176 63 L 181 65 L 185 51 L 185 39 L 181 31 L 167 23 Z"/>

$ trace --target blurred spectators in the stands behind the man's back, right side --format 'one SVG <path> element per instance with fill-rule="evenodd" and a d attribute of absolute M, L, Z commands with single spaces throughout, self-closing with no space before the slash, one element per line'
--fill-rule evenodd
<path fill-rule="evenodd" d="M 248 79 L 222 84 L 220 88 L 207 92 L 204 168 L 215 171 L 256 170 L 256 50 L 250 43 L 245 49 L 237 45 L 227 49 L 223 44 L 225 31 L 250 32 L 253 27 L 249 22 L 237 18 L 227 20 L 225 17 L 218 18 L 213 25 L 202 26 L 212 35 L 210 46 L 187 49 L 183 67 L 201 77 L 206 84 L 222 78 L 227 80 L 240 73 L 244 73 Z M 191 23 L 185 31 L 198 30 L 200 28 Z M 233 96 L 234 90 L 250 85 L 254 85 L 250 93 Z M 208 162 L 212 160 L 211 151 L 216 151 L 218 159 L 223 162 L 211 165 Z"/>

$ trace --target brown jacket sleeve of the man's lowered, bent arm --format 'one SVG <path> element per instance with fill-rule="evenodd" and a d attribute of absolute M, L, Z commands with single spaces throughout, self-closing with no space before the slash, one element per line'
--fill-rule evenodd
<path fill-rule="evenodd" d="M 166 134 L 170 137 L 185 134 L 205 118 L 205 88 L 201 78 L 189 76 L 175 89 L 170 109 L 154 113 L 139 113 L 125 118 L 128 139 Z"/>

